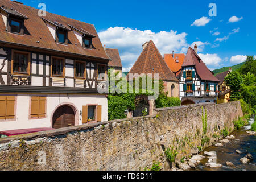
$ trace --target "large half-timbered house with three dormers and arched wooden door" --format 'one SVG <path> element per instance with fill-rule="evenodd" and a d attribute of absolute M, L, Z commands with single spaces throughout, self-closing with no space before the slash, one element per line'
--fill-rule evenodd
<path fill-rule="evenodd" d="M 92 24 L 1 0 L 0 130 L 106 121 L 109 60 Z"/>

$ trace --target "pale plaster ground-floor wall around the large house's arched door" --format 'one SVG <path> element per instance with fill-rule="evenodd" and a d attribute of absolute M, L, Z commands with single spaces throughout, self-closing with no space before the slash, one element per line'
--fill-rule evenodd
<path fill-rule="evenodd" d="M 51 127 L 51 117 L 53 111 L 63 103 L 71 103 L 76 106 L 78 112 L 82 110 L 82 106 L 87 104 L 98 104 L 102 106 L 102 121 L 108 120 L 108 100 L 105 95 L 100 94 L 48 94 L 47 96 L 47 118 L 29 119 L 30 114 L 30 96 L 38 96 L 38 94 L 18 94 L 16 121 L 0 122 L 0 130 L 16 130 L 37 127 Z M 79 114 L 79 125 L 82 125 L 82 117 Z"/>

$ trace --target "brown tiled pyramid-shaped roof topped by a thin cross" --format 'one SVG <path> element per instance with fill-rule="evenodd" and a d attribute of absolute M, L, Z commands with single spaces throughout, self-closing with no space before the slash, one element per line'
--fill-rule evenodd
<path fill-rule="evenodd" d="M 178 81 L 152 40 L 143 49 L 129 73 L 138 73 L 139 75 L 141 73 L 159 73 L 160 80 Z"/>

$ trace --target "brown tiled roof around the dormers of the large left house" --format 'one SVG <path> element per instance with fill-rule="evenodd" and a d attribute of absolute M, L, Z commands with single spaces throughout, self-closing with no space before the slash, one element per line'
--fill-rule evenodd
<path fill-rule="evenodd" d="M 3 18 L 2 16 L 0 16 L 0 42 L 13 43 L 18 45 L 21 44 L 25 46 L 32 46 L 35 48 L 43 48 L 64 53 L 72 53 L 86 57 L 97 57 L 101 59 L 106 59 L 106 61 L 109 60 L 109 57 L 108 55 L 106 55 L 101 41 L 98 38 L 96 29 L 92 24 L 80 22 L 79 20 L 74 20 L 47 12 L 46 17 L 43 17 L 44 19 L 47 19 L 51 22 L 58 22 L 60 24 L 63 24 L 63 26 L 65 27 L 69 27 L 69 25 L 71 25 L 96 36 L 96 38 L 92 39 L 92 49 L 82 48 L 79 40 L 77 39 L 73 31 L 68 32 L 68 40 L 70 42 L 68 46 L 63 44 L 57 44 L 51 32 L 48 30 L 44 20 L 40 16 L 38 16 L 38 9 L 9 0 L 1 0 L 0 6 L 2 5 L 7 9 L 12 8 L 13 10 L 18 11 L 18 13 L 26 16 L 28 19 L 24 20 L 25 32 L 27 33 L 24 35 L 16 35 L 5 31 L 6 27 L 3 22 Z M 40 42 L 37 43 L 38 41 Z"/>

